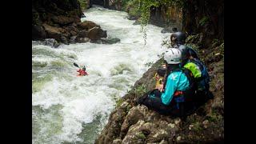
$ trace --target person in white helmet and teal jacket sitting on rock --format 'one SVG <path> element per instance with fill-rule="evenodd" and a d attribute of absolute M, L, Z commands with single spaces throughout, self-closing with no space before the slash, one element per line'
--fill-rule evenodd
<path fill-rule="evenodd" d="M 181 58 L 182 53 L 178 49 L 171 48 L 166 52 L 164 55 L 167 69 L 166 82 L 158 86 L 158 89 L 138 98 L 138 104 L 143 104 L 160 114 L 185 116 L 186 110 L 192 106 L 190 99 L 194 95 L 194 89 L 191 85 L 190 71 L 182 70 L 180 67 Z"/>

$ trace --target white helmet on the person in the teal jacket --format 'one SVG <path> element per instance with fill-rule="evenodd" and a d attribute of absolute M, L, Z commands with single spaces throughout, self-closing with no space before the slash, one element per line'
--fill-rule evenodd
<path fill-rule="evenodd" d="M 178 64 L 182 61 L 182 52 L 175 48 L 170 48 L 166 51 L 164 59 L 168 64 Z"/>

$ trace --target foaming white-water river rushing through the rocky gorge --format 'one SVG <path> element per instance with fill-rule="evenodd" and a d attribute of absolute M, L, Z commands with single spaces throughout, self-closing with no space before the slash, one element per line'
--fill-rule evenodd
<path fill-rule="evenodd" d="M 106 125 L 115 102 L 130 90 L 166 48 L 162 28 L 147 26 L 144 45 L 141 26 L 126 12 L 93 7 L 86 20 L 107 30 L 115 44 L 76 43 L 58 48 L 32 42 L 32 142 L 94 143 Z M 73 63 L 90 74 L 77 77 Z"/>

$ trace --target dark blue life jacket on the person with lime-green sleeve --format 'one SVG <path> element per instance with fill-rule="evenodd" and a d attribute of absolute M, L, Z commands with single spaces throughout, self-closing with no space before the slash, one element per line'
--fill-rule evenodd
<path fill-rule="evenodd" d="M 197 83 L 196 89 L 197 90 L 209 90 L 210 76 L 208 74 L 206 65 L 204 65 L 204 63 L 197 58 L 190 59 L 190 60 L 188 60 L 188 62 L 193 62 L 194 64 L 196 64 L 202 73 L 200 78 L 195 78 L 195 81 Z"/>

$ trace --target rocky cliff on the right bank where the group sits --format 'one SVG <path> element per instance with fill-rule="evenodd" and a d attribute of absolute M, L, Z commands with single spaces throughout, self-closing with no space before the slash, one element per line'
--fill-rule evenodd
<path fill-rule="evenodd" d="M 130 19 L 139 19 L 136 6 L 129 1 Z M 122 3 L 119 2 L 119 5 Z M 121 6 L 122 7 L 122 6 Z M 176 4 L 150 7 L 150 23 L 185 31 L 187 45 L 198 50 L 210 74 L 209 100 L 185 119 L 163 116 L 135 99 L 154 89 L 154 74 L 162 59 L 143 74 L 128 94 L 117 102 L 109 121 L 95 143 L 223 143 L 224 142 L 224 2 L 181 0 Z"/>

